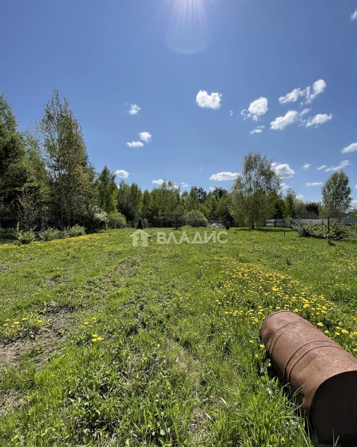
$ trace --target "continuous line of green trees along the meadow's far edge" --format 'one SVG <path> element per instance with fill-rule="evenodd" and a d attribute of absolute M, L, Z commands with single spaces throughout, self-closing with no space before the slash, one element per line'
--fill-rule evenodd
<path fill-rule="evenodd" d="M 21 132 L 4 94 L 0 95 L 0 228 L 75 224 L 89 231 L 106 227 L 205 225 L 208 220 L 252 228 L 267 219 L 342 217 L 351 208 L 349 179 L 335 172 L 322 188 L 322 202 L 303 202 L 260 153 L 244 156 L 231 190 L 180 191 L 164 181 L 152 191 L 122 179 L 107 166 L 96 172 L 81 126 L 58 90 L 34 128 Z"/>

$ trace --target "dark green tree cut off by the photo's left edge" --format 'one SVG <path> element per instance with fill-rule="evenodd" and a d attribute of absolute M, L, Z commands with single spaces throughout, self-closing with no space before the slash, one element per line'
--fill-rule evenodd
<path fill-rule="evenodd" d="M 4 94 L 0 94 L 0 228 L 14 225 L 27 181 L 23 138 Z"/>

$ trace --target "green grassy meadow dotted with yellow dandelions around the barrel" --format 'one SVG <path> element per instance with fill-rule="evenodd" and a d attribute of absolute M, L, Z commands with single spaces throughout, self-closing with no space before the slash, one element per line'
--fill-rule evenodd
<path fill-rule="evenodd" d="M 0 445 L 317 445 L 259 328 L 291 309 L 357 355 L 356 244 L 156 231 L 0 246 Z"/>

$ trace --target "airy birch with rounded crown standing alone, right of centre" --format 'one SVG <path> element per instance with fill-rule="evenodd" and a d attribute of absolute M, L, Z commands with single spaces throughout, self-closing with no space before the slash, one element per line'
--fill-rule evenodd
<path fill-rule="evenodd" d="M 266 155 L 250 152 L 244 155 L 241 175 L 232 188 L 232 213 L 241 223 L 254 229 L 263 224 L 272 211 L 271 194 L 279 190 L 280 177 Z"/>

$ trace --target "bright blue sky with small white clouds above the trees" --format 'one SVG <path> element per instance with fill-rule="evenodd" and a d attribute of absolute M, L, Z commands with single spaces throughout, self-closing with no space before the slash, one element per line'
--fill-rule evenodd
<path fill-rule="evenodd" d="M 0 90 L 25 129 L 58 88 L 96 169 L 143 189 L 229 188 L 259 150 L 304 200 L 339 166 L 357 199 L 355 11 L 356 0 L 2 0 Z"/>

